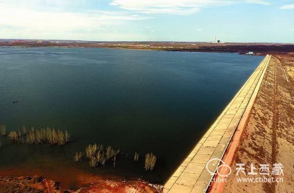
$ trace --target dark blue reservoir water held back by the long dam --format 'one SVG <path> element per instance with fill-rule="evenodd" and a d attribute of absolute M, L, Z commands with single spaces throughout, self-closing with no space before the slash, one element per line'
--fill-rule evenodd
<path fill-rule="evenodd" d="M 263 56 L 94 48 L 0 48 L 0 124 L 67 129 L 65 146 L 0 137 L 0 175 L 43 175 L 76 188 L 80 173 L 163 184 Z M 18 103 L 13 103 L 18 101 Z M 90 168 L 89 143 L 123 152 Z M 141 159 L 133 163 L 133 154 Z M 157 164 L 144 170 L 144 155 Z M 10 168 L 10 169 L 8 169 Z"/>

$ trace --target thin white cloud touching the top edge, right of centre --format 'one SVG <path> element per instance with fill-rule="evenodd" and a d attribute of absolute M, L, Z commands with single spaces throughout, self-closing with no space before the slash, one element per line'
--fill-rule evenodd
<path fill-rule="evenodd" d="M 236 3 L 270 4 L 266 0 L 112 0 L 109 4 L 141 13 L 187 15 L 201 8 L 232 5 Z"/>

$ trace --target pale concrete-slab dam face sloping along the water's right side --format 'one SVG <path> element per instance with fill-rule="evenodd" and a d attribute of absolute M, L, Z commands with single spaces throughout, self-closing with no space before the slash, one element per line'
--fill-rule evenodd
<path fill-rule="evenodd" d="M 269 60 L 270 55 L 267 55 L 192 152 L 172 174 L 164 186 L 165 193 L 206 192 L 213 177 L 205 168 L 206 163 L 214 158 L 222 158 L 254 89 L 259 89 L 256 87 L 257 83 L 266 70 Z M 208 166 L 209 170 L 215 171 L 218 164 L 218 161 L 211 162 Z"/>

